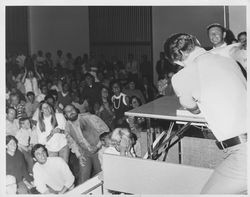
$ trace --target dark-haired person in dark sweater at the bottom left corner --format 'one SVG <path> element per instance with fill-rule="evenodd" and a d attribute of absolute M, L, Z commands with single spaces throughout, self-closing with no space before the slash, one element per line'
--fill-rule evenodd
<path fill-rule="evenodd" d="M 17 193 L 28 194 L 33 178 L 29 175 L 23 154 L 17 149 L 17 139 L 6 136 L 6 174 L 16 178 Z"/>

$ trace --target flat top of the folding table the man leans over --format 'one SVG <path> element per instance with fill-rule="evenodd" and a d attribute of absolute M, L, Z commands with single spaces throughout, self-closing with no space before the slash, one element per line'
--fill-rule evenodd
<path fill-rule="evenodd" d="M 206 123 L 205 119 L 201 117 L 177 115 L 176 110 L 180 107 L 181 105 L 177 97 L 163 96 L 136 109 L 125 112 L 125 115 L 164 120 Z"/>

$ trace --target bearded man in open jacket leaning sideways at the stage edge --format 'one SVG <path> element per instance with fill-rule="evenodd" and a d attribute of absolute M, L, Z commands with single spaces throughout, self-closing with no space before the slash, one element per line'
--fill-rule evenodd
<path fill-rule="evenodd" d="M 66 105 L 64 116 L 67 119 L 65 133 L 69 147 L 78 149 L 79 159 L 78 184 L 81 184 L 101 171 L 98 159 L 99 135 L 109 132 L 108 126 L 96 115 L 79 114 L 74 105 Z M 74 151 L 72 151 L 74 152 Z M 85 158 L 84 165 L 82 157 Z"/>

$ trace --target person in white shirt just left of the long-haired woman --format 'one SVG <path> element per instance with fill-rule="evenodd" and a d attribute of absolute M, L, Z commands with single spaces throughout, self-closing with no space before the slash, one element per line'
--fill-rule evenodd
<path fill-rule="evenodd" d="M 25 161 L 28 165 L 29 173 L 32 173 L 33 159 L 30 150 L 37 143 L 36 132 L 31 129 L 29 118 L 19 119 L 20 129 L 17 131 L 16 139 L 18 140 L 18 149 L 23 153 Z"/>

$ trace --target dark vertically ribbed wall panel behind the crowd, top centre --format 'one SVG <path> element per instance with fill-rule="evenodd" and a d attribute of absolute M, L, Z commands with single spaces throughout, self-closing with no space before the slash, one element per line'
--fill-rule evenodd
<path fill-rule="evenodd" d="M 109 60 L 117 56 L 127 61 L 128 53 L 137 60 L 146 54 L 152 58 L 151 7 L 89 7 L 90 51 L 104 54 Z"/>

